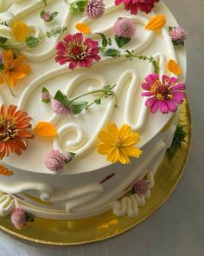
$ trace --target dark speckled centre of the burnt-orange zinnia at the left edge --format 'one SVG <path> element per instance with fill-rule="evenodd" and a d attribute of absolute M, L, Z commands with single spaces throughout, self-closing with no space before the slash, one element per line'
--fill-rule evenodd
<path fill-rule="evenodd" d="M 0 141 L 9 141 L 17 135 L 16 123 L 12 120 L 3 120 L 0 118 Z"/>

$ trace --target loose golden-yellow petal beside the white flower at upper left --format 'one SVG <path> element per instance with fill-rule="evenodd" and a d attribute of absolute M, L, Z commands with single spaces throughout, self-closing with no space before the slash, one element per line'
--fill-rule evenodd
<path fill-rule="evenodd" d="M 13 35 L 15 36 L 16 40 L 20 43 L 25 42 L 26 37 L 29 34 L 29 27 L 26 23 L 22 21 L 16 21 L 13 26 Z"/>

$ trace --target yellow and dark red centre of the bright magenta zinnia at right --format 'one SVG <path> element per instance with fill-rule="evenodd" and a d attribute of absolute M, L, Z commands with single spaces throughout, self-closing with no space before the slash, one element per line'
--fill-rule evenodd
<path fill-rule="evenodd" d="M 152 85 L 150 92 L 152 92 L 159 101 L 172 99 L 172 94 L 167 84 L 161 83 L 159 80 Z"/>

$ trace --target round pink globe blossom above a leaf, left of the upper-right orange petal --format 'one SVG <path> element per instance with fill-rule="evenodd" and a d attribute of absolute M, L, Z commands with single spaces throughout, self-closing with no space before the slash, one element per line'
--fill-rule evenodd
<path fill-rule="evenodd" d="M 118 18 L 113 27 L 116 36 L 131 38 L 136 31 L 136 24 L 130 18 Z"/>

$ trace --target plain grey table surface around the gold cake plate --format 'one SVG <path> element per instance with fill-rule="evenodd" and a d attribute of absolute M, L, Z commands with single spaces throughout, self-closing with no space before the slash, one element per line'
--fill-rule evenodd
<path fill-rule="evenodd" d="M 164 0 L 181 27 L 188 31 L 188 100 L 194 131 L 185 173 L 167 203 L 150 219 L 111 240 L 54 247 L 18 240 L 0 232 L 3 256 L 201 256 L 204 255 L 204 0 Z"/>

